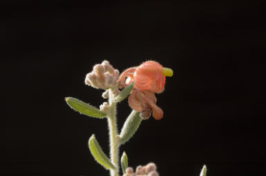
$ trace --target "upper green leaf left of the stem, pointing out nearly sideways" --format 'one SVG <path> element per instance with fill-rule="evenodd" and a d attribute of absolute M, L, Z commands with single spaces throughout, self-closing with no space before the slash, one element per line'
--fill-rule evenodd
<path fill-rule="evenodd" d="M 98 108 L 86 104 L 85 102 L 80 101 L 79 99 L 67 97 L 66 101 L 70 108 L 78 111 L 78 113 L 80 114 L 98 118 L 106 117 L 106 114 L 100 111 Z"/>

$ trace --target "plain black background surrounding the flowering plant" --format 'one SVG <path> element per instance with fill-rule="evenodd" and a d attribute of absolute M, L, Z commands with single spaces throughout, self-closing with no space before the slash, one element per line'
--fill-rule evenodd
<path fill-rule="evenodd" d="M 263 175 L 265 25 L 248 1 L 1 1 L 0 175 L 108 175 L 91 134 L 108 153 L 107 123 L 71 110 L 102 91 L 87 72 L 107 59 L 118 70 L 152 59 L 172 68 L 157 95 L 160 121 L 143 121 L 125 146 L 130 166 L 161 175 Z M 118 106 L 118 127 L 130 113 Z"/>

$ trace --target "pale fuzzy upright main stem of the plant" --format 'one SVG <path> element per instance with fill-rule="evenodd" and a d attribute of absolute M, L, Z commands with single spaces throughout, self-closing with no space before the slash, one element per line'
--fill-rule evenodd
<path fill-rule="evenodd" d="M 118 166 L 118 147 L 119 138 L 117 134 L 116 125 L 116 102 L 114 102 L 114 94 L 109 89 L 109 113 L 107 115 L 108 126 L 109 126 L 109 144 L 110 144 L 110 157 L 112 164 L 116 166 L 115 170 L 110 170 L 111 176 L 118 176 L 119 166 Z"/>

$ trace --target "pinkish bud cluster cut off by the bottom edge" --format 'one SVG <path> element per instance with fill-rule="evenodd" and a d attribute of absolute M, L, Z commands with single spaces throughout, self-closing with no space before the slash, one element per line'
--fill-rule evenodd
<path fill-rule="evenodd" d="M 123 176 L 159 176 L 156 171 L 156 166 L 154 163 L 149 163 L 146 166 L 136 167 L 136 172 L 134 173 L 133 168 L 128 167 L 125 170 L 125 175 Z"/>

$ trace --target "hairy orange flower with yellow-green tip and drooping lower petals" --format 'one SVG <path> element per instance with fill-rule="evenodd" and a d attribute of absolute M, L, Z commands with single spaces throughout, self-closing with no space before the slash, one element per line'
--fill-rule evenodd
<path fill-rule="evenodd" d="M 163 68 L 156 61 L 145 61 L 140 66 L 128 68 L 121 74 L 119 78 L 121 86 L 125 87 L 134 82 L 128 104 L 133 110 L 141 112 L 143 119 L 148 119 L 151 113 L 154 119 L 159 120 L 163 117 L 163 110 L 156 105 L 154 92 L 163 91 L 166 76 L 172 76 L 172 70 Z"/>

